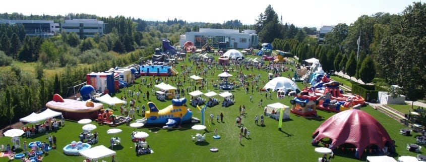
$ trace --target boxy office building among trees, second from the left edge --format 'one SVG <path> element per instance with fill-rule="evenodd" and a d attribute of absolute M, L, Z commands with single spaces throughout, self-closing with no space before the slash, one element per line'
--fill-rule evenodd
<path fill-rule="evenodd" d="M 99 33 L 101 36 L 105 30 L 103 21 L 96 19 L 73 19 L 65 20 L 65 23 L 60 24 L 60 30 L 67 33 L 77 33 L 80 38 L 93 36 Z"/>

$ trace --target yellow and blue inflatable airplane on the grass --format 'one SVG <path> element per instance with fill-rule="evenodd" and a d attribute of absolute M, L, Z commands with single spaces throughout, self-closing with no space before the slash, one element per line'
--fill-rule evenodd
<path fill-rule="evenodd" d="M 165 127 L 173 127 L 181 123 L 200 122 L 194 118 L 191 109 L 186 106 L 187 99 L 172 99 L 171 105 L 168 105 L 162 110 L 158 110 L 157 105 L 153 102 L 148 102 L 149 111 L 145 112 L 145 118 L 138 120 L 145 125 L 165 125 Z"/>

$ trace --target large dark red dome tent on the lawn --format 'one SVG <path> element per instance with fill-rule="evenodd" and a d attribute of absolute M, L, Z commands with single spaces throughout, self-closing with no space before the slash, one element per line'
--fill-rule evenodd
<path fill-rule="evenodd" d="M 335 114 L 327 119 L 312 135 L 312 144 L 317 145 L 323 138 L 331 139 L 331 149 L 342 144 L 352 144 L 357 148 L 355 157 L 360 158 L 364 149 L 376 145 L 380 149 L 388 147 L 395 152 L 395 145 L 388 132 L 370 114 L 356 109 Z"/>

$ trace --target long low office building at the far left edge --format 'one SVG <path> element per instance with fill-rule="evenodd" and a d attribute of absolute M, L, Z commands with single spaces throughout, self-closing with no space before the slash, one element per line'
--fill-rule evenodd
<path fill-rule="evenodd" d="M 29 36 L 52 36 L 59 32 L 59 24 L 53 20 L 0 20 L 0 24 L 23 25 L 25 34 Z"/>

